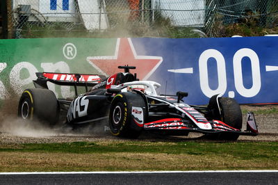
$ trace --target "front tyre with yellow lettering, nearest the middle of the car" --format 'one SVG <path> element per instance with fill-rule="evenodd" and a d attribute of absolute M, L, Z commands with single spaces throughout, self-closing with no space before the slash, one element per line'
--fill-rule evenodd
<path fill-rule="evenodd" d="M 114 136 L 138 138 L 146 118 L 146 104 L 141 95 L 120 93 L 111 103 L 109 127 Z"/>

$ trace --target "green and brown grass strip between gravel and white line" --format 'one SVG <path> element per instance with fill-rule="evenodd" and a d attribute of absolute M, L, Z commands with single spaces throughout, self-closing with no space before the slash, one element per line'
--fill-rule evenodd
<path fill-rule="evenodd" d="M 277 168 L 277 142 L 115 140 L 0 145 L 1 172 Z"/>

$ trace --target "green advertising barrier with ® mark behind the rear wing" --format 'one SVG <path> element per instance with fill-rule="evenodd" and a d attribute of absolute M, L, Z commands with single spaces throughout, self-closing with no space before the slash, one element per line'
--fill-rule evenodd
<path fill-rule="evenodd" d="M 0 99 L 20 95 L 33 88 L 35 72 L 99 74 L 88 56 L 115 53 L 117 39 L 42 38 L 0 40 Z M 49 85 L 59 97 L 72 95 L 70 87 Z"/>

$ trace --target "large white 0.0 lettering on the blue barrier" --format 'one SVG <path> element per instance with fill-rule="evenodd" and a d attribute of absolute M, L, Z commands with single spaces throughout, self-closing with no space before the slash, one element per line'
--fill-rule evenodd
<path fill-rule="evenodd" d="M 250 58 L 252 72 L 252 87 L 245 88 L 243 84 L 243 58 Z M 218 88 L 212 90 L 208 84 L 208 58 L 215 58 L 217 63 Z M 206 97 L 216 94 L 224 94 L 227 90 L 227 73 L 224 56 L 216 49 L 207 49 L 199 57 L 199 80 L 200 88 Z M 259 57 L 255 51 L 243 48 L 236 51 L 233 58 L 234 83 L 237 92 L 243 97 L 254 97 L 261 90 L 261 72 Z M 229 97 L 234 97 L 234 92 L 229 91 Z"/>

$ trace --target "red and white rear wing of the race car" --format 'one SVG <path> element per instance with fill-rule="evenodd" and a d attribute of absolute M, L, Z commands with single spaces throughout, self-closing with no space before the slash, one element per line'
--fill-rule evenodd
<path fill-rule="evenodd" d="M 88 91 L 88 86 L 92 87 L 100 83 L 105 76 L 99 74 L 70 74 L 70 73 L 58 73 L 58 72 L 36 72 L 38 79 L 33 83 L 35 88 L 47 88 L 47 81 L 59 86 L 84 86 Z"/>

